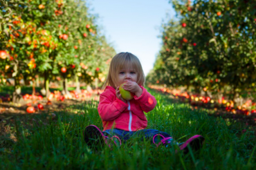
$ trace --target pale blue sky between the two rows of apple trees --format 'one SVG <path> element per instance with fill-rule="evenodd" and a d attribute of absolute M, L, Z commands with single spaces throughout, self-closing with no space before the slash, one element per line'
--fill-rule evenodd
<path fill-rule="evenodd" d="M 161 23 L 175 15 L 172 4 L 168 0 L 89 0 L 87 3 L 89 12 L 98 14 L 97 24 L 116 53 L 136 55 L 147 75 L 161 48 L 158 38 Z"/>

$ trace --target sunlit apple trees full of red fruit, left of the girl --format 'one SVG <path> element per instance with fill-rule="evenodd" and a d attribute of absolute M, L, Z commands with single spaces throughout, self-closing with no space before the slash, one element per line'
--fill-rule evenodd
<path fill-rule="evenodd" d="M 90 84 L 104 81 L 115 50 L 107 43 L 82 0 L 0 1 L 0 84 L 15 79 L 15 102 L 26 84 L 61 77 L 64 93 L 72 79 Z M 60 79 L 59 79 L 60 80 Z"/>

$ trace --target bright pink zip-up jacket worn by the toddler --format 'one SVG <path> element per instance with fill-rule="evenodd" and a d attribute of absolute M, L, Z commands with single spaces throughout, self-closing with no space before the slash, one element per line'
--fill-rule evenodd
<path fill-rule="evenodd" d="M 102 120 L 103 131 L 107 129 L 122 129 L 125 131 L 138 131 L 147 127 L 146 113 L 152 111 L 156 106 L 156 99 L 153 95 L 143 89 L 142 95 L 134 99 L 122 102 L 116 97 L 116 89 L 107 86 L 100 94 L 98 113 Z"/>

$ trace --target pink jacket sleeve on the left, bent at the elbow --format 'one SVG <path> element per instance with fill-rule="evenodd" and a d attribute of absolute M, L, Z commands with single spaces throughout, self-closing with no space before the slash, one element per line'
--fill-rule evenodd
<path fill-rule="evenodd" d="M 111 100 L 113 100 L 113 97 L 104 93 L 100 94 L 98 113 L 102 121 L 115 120 L 126 108 L 128 108 L 128 104 L 119 100 L 118 97 L 116 97 L 116 100 L 114 101 Z"/>

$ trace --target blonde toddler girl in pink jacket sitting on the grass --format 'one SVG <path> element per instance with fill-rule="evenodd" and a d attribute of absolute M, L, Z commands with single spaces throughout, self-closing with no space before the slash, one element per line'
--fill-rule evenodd
<path fill-rule="evenodd" d="M 123 88 L 134 94 L 131 100 L 124 100 L 120 94 L 120 84 L 126 82 Z M 102 120 L 103 131 L 95 125 L 86 126 L 84 140 L 88 145 L 105 143 L 110 147 L 110 141 L 120 146 L 131 136 L 142 136 L 158 147 L 172 145 L 173 138 L 165 132 L 147 127 L 147 117 L 144 112 L 149 112 L 156 106 L 156 99 L 144 88 L 145 75 L 138 57 L 131 53 L 119 53 L 110 63 L 107 80 L 103 85 L 104 92 L 100 94 L 98 113 Z M 157 139 L 160 139 L 157 141 Z M 197 150 L 204 142 L 201 135 L 194 135 L 183 144 L 179 144 L 184 153 L 188 153 L 188 144 Z"/>

